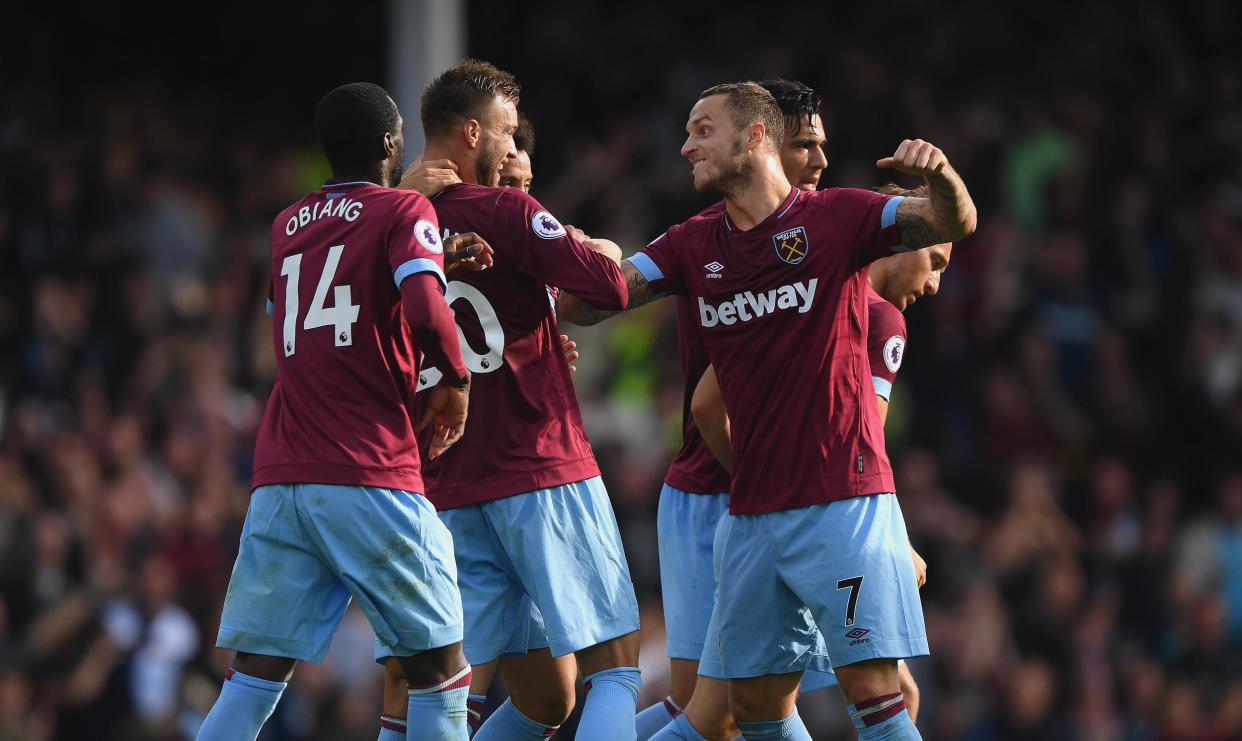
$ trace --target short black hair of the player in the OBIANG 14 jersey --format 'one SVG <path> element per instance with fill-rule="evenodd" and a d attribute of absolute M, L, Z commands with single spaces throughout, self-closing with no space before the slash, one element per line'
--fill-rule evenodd
<path fill-rule="evenodd" d="M 384 134 L 396 134 L 401 112 L 388 91 L 351 82 L 319 99 L 314 127 L 333 173 L 361 173 L 384 159 Z"/>

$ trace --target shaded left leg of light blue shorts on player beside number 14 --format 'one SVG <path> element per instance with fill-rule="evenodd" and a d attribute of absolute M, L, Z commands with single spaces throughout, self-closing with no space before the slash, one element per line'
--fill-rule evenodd
<path fill-rule="evenodd" d="M 496 662 L 505 652 L 527 650 L 527 643 L 538 638 L 538 626 L 532 626 L 532 603 L 483 506 L 440 513 L 440 520 L 453 536 L 457 587 L 466 617 L 463 644 L 471 665 Z"/>

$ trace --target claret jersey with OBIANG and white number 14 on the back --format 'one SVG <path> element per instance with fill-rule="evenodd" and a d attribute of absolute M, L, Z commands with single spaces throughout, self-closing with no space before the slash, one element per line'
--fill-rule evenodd
<path fill-rule="evenodd" d="M 443 283 L 431 202 L 371 182 L 327 184 L 272 225 L 277 376 L 253 487 L 343 484 L 424 492 L 411 410 L 420 351 L 401 281 Z"/>

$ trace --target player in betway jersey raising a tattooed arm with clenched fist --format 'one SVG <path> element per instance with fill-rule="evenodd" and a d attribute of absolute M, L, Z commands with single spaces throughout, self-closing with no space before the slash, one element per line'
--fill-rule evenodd
<path fill-rule="evenodd" d="M 794 699 L 822 627 L 861 737 L 917 739 L 895 659 L 925 654 L 927 639 L 878 413 L 862 403 L 861 268 L 971 233 L 974 205 L 920 140 L 877 165 L 923 175 L 928 199 L 791 189 L 782 128 L 754 83 L 707 91 L 682 154 L 696 187 L 723 192 L 725 210 L 671 228 L 622 268 L 632 304 L 666 290 L 692 299 L 733 413 L 715 616 L 743 734 L 809 737 Z"/>

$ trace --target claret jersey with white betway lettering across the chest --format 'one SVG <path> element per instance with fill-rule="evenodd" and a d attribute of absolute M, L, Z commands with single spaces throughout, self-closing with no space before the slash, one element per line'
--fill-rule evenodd
<path fill-rule="evenodd" d="M 694 312 L 729 410 L 733 514 L 894 489 L 872 398 L 862 268 L 902 249 L 900 201 L 791 189 L 751 230 L 722 210 L 630 258 L 653 290 Z"/>

